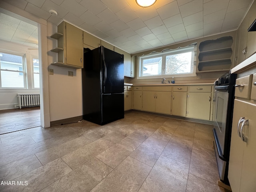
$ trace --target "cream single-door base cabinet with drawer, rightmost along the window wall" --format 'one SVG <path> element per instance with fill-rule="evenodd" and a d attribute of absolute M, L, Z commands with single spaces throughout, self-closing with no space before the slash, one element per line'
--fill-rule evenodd
<path fill-rule="evenodd" d="M 187 116 L 190 118 L 210 120 L 211 86 L 190 86 Z"/>

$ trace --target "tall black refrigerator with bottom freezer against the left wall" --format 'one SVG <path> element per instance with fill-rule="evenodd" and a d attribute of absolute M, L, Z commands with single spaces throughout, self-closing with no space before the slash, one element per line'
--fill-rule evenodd
<path fill-rule="evenodd" d="M 124 55 L 85 49 L 82 94 L 84 120 L 104 125 L 124 118 Z"/>

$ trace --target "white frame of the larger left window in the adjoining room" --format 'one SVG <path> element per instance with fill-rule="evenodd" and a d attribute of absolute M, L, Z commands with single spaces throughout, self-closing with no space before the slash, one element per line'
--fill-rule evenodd
<path fill-rule="evenodd" d="M 26 60 L 25 60 L 25 54 L 19 54 L 16 52 L 8 52 L 8 51 L 3 51 L 0 50 L 1 53 L 5 53 L 5 54 L 11 54 L 11 55 L 16 55 L 16 56 L 21 56 L 22 57 L 22 68 L 23 71 L 19 71 L 19 70 L 8 70 L 8 69 L 2 69 L 1 65 L 0 65 L 0 89 L 27 89 L 27 76 L 26 76 Z M 23 73 L 23 83 L 24 83 L 24 87 L 2 87 L 2 78 L 1 78 L 1 71 L 10 71 L 10 72 L 20 72 Z"/>

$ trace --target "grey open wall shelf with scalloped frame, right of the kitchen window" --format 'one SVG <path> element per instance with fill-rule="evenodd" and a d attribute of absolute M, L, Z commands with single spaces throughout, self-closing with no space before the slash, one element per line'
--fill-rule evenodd
<path fill-rule="evenodd" d="M 231 36 L 201 42 L 196 72 L 228 71 L 232 64 L 232 44 L 233 38 Z"/>

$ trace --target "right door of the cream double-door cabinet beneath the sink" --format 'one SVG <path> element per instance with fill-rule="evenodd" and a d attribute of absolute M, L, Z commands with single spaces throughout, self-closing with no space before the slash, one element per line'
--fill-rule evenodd
<path fill-rule="evenodd" d="M 172 92 L 156 92 L 156 112 L 171 114 Z"/>

